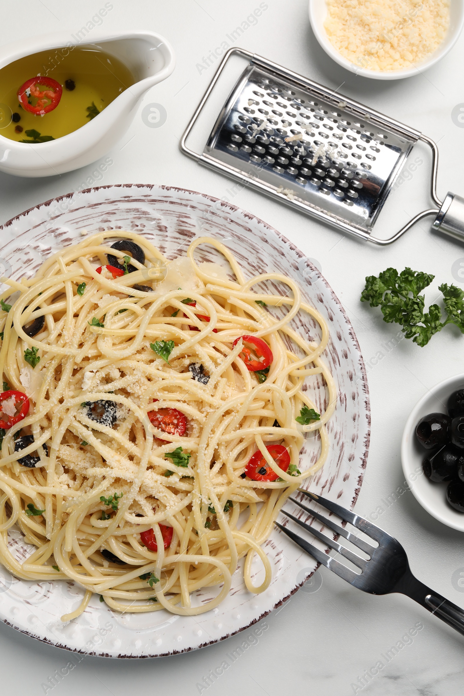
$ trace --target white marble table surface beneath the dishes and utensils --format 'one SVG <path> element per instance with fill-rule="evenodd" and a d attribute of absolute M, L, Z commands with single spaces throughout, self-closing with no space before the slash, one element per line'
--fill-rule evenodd
<path fill-rule="evenodd" d="M 178 141 L 215 70 L 213 66 L 200 69 L 203 58 L 221 42 L 232 43 L 227 34 L 246 22 L 259 7 L 259 0 L 112 0 L 111 4 L 113 9 L 101 29 L 158 31 L 175 49 L 175 72 L 145 96 L 124 139 L 109 153 L 114 164 L 102 180 L 93 177 L 95 166 L 42 179 L 0 174 L 1 223 L 37 203 L 79 189 L 86 180 L 88 185 L 92 180 L 95 185 L 171 184 L 232 198 L 227 192 L 231 182 L 184 157 Z M 451 120 L 454 106 L 464 102 L 464 38 L 442 63 L 408 81 L 360 79 L 339 68 L 321 51 L 310 30 L 307 0 L 266 0 L 261 5 L 266 6 L 262 16 L 257 23 L 250 20 L 238 45 L 339 88 L 339 93 L 428 134 L 440 147 L 440 196 L 449 189 L 464 193 L 464 129 Z M 102 6 L 103 0 L 3 3 L 0 43 L 18 39 L 27 42 L 29 36 L 49 31 L 69 31 L 71 35 Z M 142 120 L 143 106 L 152 103 L 166 109 L 167 120 L 162 127 L 147 127 Z M 408 216 L 429 207 L 429 157 L 421 148 L 414 157 L 419 157 L 422 164 L 412 177 L 406 175 L 408 180 L 385 207 L 381 218 L 385 234 L 399 228 Z M 429 221 L 410 230 L 394 246 L 376 248 L 343 237 L 247 189 L 236 193 L 232 200 L 316 259 L 344 303 L 368 365 L 372 409 L 369 461 L 356 510 L 369 516 L 381 507 L 378 523 L 403 543 L 413 572 L 434 590 L 464 606 L 464 588 L 460 592 L 451 582 L 456 570 L 464 571 L 464 536 L 435 521 L 410 491 L 401 489 L 403 493 L 397 500 L 392 496 L 404 480 L 399 456 L 403 424 L 428 388 L 464 372 L 464 337 L 447 328 L 424 349 L 406 340 L 392 348 L 397 328 L 381 322 L 378 310 L 359 301 L 365 276 L 378 274 L 388 266 L 410 266 L 435 274 L 436 280 L 426 293 L 432 303 L 439 295 L 438 285 L 453 281 L 451 267 L 460 258 L 464 261 L 464 247 L 435 235 Z M 406 597 L 368 596 L 326 569 L 319 573 L 323 580 L 319 590 L 308 592 L 304 587 L 270 615 L 266 619 L 269 630 L 209 688 L 196 685 L 209 670 L 221 665 L 225 654 L 241 642 L 241 635 L 201 651 L 157 661 L 86 656 L 51 689 L 42 684 L 66 665 L 67 652 L 0 624 L 1 691 L 15 695 L 53 692 L 53 696 L 190 696 L 200 691 L 208 696 L 237 692 L 243 696 L 349 696 L 361 690 L 373 696 L 463 693 L 464 638 Z M 409 644 L 401 647 L 367 686 L 353 686 L 365 670 L 378 661 L 385 663 L 382 656 L 386 651 L 419 622 L 423 628 L 413 642 L 408 640 Z"/>

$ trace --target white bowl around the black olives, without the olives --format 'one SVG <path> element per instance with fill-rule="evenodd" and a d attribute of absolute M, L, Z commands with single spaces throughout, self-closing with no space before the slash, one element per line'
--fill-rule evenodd
<path fill-rule="evenodd" d="M 464 374 L 456 374 L 456 377 L 449 377 L 435 384 L 410 412 L 401 440 L 401 464 L 413 495 L 435 519 L 460 532 L 464 532 L 464 514 L 448 505 L 448 484 L 433 483 L 422 472 L 422 461 L 427 456 L 427 450 L 417 442 L 415 427 L 428 413 L 446 413 L 448 397 L 454 391 L 463 388 Z"/>

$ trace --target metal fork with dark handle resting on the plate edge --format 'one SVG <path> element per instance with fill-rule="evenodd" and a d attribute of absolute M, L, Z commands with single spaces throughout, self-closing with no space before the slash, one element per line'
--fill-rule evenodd
<path fill-rule="evenodd" d="M 401 546 L 397 539 L 390 537 L 387 532 L 383 532 L 383 530 L 367 521 L 367 519 L 364 519 L 364 517 L 350 512 L 350 510 L 341 507 L 341 505 L 337 505 L 337 503 L 333 503 L 331 500 L 327 500 L 327 498 L 321 498 L 321 496 L 317 496 L 315 493 L 310 493 L 309 491 L 303 491 L 303 489 L 298 489 L 298 491 L 303 493 L 304 496 L 307 496 L 307 498 L 310 498 L 310 500 L 313 500 L 314 503 L 318 503 L 322 507 L 330 510 L 330 512 L 336 514 L 342 520 L 357 527 L 361 532 L 364 532 L 365 535 L 377 541 L 378 546 L 371 546 L 371 544 L 359 539 L 355 534 L 323 516 L 321 513 L 317 512 L 317 510 L 306 507 L 306 505 L 303 505 L 303 503 L 300 503 L 298 500 L 294 500 L 294 498 L 289 498 L 289 500 L 312 515 L 315 519 L 322 522 L 323 525 L 326 525 L 326 527 L 336 532 L 337 535 L 351 541 L 351 544 L 354 544 L 354 546 L 357 546 L 369 556 L 369 560 L 361 558 L 356 553 L 349 551 L 345 546 L 338 544 L 337 541 L 322 534 L 319 530 L 314 529 L 289 512 L 282 510 L 283 514 L 303 527 L 307 532 L 310 532 L 310 534 L 317 537 L 317 539 L 321 539 L 324 544 L 335 549 L 340 555 L 351 561 L 351 563 L 360 569 L 361 573 L 356 574 L 340 563 L 336 558 L 328 556 L 323 551 L 320 551 L 319 548 L 316 548 L 316 546 L 309 544 L 305 539 L 298 537 L 298 535 L 287 527 L 275 522 L 275 525 L 277 525 L 287 537 L 290 537 L 290 539 L 298 544 L 298 546 L 301 546 L 304 551 L 312 555 L 319 563 L 325 565 L 326 568 L 336 573 L 340 578 L 346 580 L 347 583 L 350 583 L 353 587 L 358 587 L 358 590 L 369 592 L 370 594 L 391 594 L 392 592 L 406 594 L 429 612 L 438 616 L 449 626 L 455 628 L 456 631 L 464 634 L 464 611 L 441 594 L 438 594 L 438 592 L 433 592 L 430 587 L 419 582 L 419 580 L 413 576 L 409 568 L 406 551 L 404 551 L 403 546 Z"/>

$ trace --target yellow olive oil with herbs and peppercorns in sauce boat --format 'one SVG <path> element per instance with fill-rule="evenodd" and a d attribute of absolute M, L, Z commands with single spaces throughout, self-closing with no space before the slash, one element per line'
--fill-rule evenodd
<path fill-rule="evenodd" d="M 17 95 L 37 75 L 45 81 L 51 78 L 63 90 L 57 106 L 42 115 L 27 111 Z M 86 125 L 135 83 L 134 75 L 118 58 L 95 45 L 24 56 L 0 69 L 0 135 L 19 143 L 61 138 Z M 36 84 L 40 85 L 40 79 Z M 35 102 L 30 95 L 29 104 L 33 107 Z"/>

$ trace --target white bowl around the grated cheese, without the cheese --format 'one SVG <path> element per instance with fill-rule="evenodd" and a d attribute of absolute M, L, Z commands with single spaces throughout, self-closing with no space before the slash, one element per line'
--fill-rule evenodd
<path fill-rule="evenodd" d="M 414 65 L 413 68 L 407 68 L 406 70 L 381 72 L 380 70 L 359 68 L 358 65 L 344 58 L 333 46 L 323 26 L 327 17 L 326 0 L 310 0 L 309 10 L 312 31 L 314 31 L 314 35 L 326 54 L 328 54 L 333 61 L 342 65 L 342 68 L 346 68 L 346 70 L 350 70 L 350 72 L 355 72 L 357 75 L 361 75 L 361 77 L 371 77 L 375 80 L 398 80 L 404 77 L 413 77 L 413 75 L 418 75 L 424 72 L 424 70 L 429 70 L 432 65 L 441 61 L 441 59 L 451 51 L 461 35 L 464 26 L 464 0 L 451 0 L 449 29 L 438 49 L 436 49 L 426 61 L 417 63 L 417 67 Z"/>

